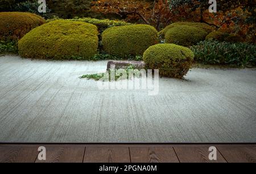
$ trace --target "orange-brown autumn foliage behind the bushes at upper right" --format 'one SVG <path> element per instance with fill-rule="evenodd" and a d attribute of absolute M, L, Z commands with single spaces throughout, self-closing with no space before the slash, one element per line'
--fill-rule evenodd
<path fill-rule="evenodd" d="M 255 0 L 217 1 L 217 13 L 210 13 L 209 1 L 200 0 L 100 0 L 92 11 L 115 14 L 128 22 L 145 23 L 160 30 L 178 21 L 203 22 L 216 30 L 238 33 L 255 42 Z"/>

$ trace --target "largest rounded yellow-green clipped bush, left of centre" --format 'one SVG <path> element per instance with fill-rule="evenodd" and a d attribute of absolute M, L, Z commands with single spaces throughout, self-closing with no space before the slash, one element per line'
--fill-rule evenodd
<path fill-rule="evenodd" d="M 98 31 L 93 24 L 55 20 L 32 29 L 19 40 L 27 58 L 89 59 L 97 53 Z"/>

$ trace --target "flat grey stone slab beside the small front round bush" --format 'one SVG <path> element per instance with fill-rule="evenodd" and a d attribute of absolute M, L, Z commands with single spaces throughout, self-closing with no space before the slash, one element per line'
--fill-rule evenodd
<path fill-rule="evenodd" d="M 115 69 L 125 69 L 127 66 L 131 65 L 139 70 L 145 68 L 143 61 L 108 61 L 107 70 L 109 70 L 111 66 L 115 66 Z"/>

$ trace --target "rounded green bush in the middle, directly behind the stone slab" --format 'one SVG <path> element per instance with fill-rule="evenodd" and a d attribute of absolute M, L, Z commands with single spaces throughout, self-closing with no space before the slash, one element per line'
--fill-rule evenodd
<path fill-rule="evenodd" d="M 149 46 L 157 43 L 156 29 L 143 24 L 112 27 L 102 33 L 104 51 L 119 57 L 142 55 Z"/>

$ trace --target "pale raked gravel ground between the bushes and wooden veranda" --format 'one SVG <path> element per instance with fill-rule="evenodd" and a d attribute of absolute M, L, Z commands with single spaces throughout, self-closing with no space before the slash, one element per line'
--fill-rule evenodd
<path fill-rule="evenodd" d="M 0 57 L 0 142 L 256 142 L 255 69 L 192 69 L 156 96 L 79 79 L 106 63 Z"/>

